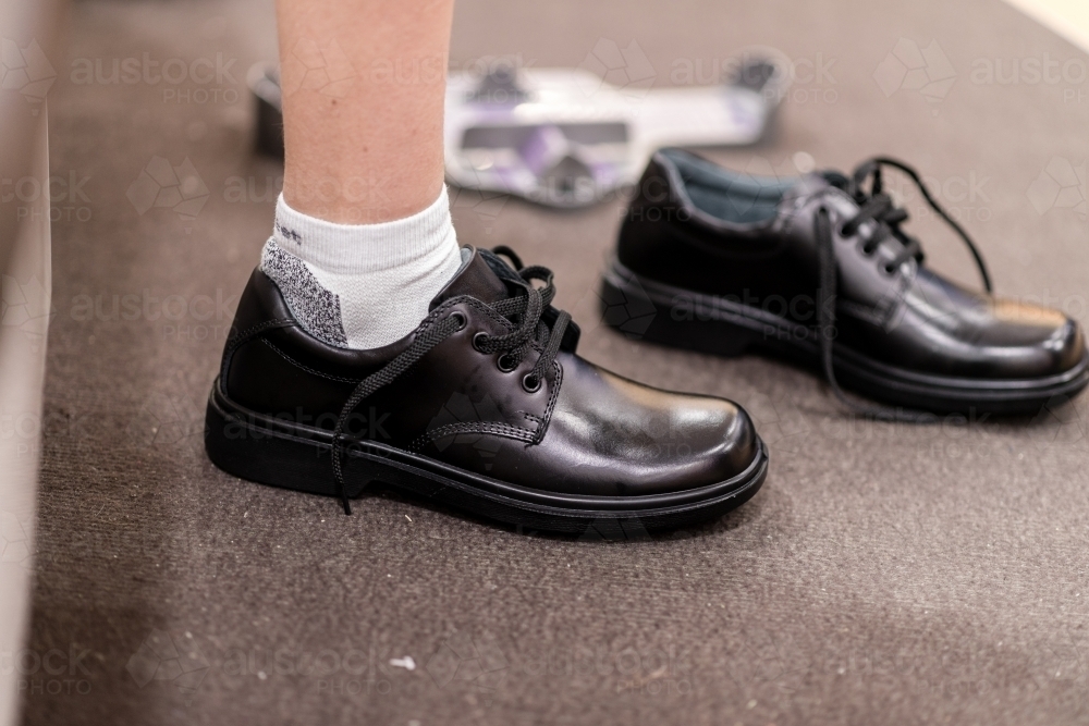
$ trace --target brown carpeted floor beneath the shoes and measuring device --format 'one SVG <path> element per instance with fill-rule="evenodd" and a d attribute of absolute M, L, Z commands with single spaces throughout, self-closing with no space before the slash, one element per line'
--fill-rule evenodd
<path fill-rule="evenodd" d="M 204 398 L 281 173 L 250 153 L 244 89 L 273 34 L 264 0 L 72 9 L 49 96 L 62 182 L 16 661 L 28 724 L 1089 719 L 1089 398 L 1035 421 L 865 422 L 806 371 L 623 340 L 595 292 L 622 200 L 558 213 L 463 193 L 454 212 L 464 242 L 555 269 L 584 355 L 752 411 L 772 464 L 742 509 L 626 542 L 558 539 L 393 496 L 345 517 L 213 468 Z M 797 83 L 779 131 L 715 158 L 791 174 L 805 155 L 902 157 L 1002 293 L 1089 320 L 1089 59 L 1006 5 L 460 0 L 452 63 L 578 65 L 610 44 L 659 86 L 781 49 Z M 146 75 L 107 83 L 126 58 Z M 180 77 L 175 58 L 210 64 L 148 79 Z M 140 204 L 157 158 L 178 200 L 203 206 Z M 919 197 L 907 206 L 931 263 L 976 284 Z"/>

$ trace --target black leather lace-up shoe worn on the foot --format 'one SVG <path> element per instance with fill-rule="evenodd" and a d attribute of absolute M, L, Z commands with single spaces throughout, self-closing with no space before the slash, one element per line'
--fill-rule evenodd
<path fill-rule="evenodd" d="M 552 273 L 466 249 L 413 333 L 326 345 L 254 271 L 208 401 L 206 444 L 254 481 L 348 499 L 370 482 L 550 531 L 631 532 L 718 517 L 768 455 L 748 415 L 575 355 Z M 534 281 L 544 283 L 535 286 Z"/>

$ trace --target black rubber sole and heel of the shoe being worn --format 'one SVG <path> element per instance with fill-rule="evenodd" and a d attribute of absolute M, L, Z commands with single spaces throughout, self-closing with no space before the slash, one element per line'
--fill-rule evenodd
<path fill-rule="evenodd" d="M 208 397 L 205 448 L 216 466 L 242 479 L 337 495 L 329 431 L 238 406 L 220 390 L 219 379 Z M 759 439 L 756 458 L 736 477 L 645 496 L 582 496 L 517 487 L 375 441 L 351 441 L 342 455 L 344 482 L 353 499 L 378 482 L 528 530 L 607 539 L 715 519 L 747 502 L 768 473 L 768 451 Z"/>

